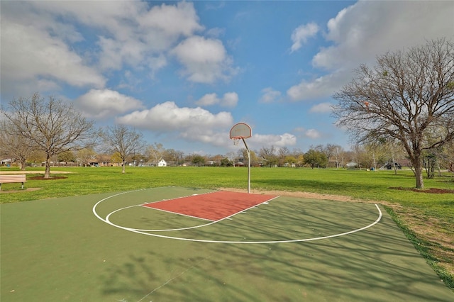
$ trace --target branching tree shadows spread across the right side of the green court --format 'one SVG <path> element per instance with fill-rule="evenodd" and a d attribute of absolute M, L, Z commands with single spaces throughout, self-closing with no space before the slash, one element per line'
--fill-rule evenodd
<path fill-rule="evenodd" d="M 136 301 L 452 301 L 453 293 L 381 210 L 370 228 L 307 242 L 150 236 L 155 247 L 109 272 L 104 293 L 131 291 Z M 294 240 L 348 232 L 377 216 L 367 203 L 280 197 L 214 225 L 164 234 Z"/>

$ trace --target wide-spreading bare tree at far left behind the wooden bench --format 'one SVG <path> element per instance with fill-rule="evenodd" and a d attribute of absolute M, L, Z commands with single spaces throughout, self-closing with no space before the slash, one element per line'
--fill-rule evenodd
<path fill-rule="evenodd" d="M 94 145 L 96 132 L 93 122 L 82 117 L 72 104 L 38 93 L 31 98 L 13 99 L 9 111 L 1 109 L 11 123 L 11 133 L 29 140 L 35 150 L 45 152 L 44 178 L 50 178 L 50 158 L 65 151 L 81 150 Z"/>

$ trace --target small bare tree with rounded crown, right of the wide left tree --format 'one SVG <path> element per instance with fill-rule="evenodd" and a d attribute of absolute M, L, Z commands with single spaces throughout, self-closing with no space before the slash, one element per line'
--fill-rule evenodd
<path fill-rule="evenodd" d="M 126 159 L 139 152 L 145 145 L 142 133 L 128 128 L 126 125 L 107 127 L 103 133 L 104 143 L 109 152 L 118 155 L 125 173 Z"/>

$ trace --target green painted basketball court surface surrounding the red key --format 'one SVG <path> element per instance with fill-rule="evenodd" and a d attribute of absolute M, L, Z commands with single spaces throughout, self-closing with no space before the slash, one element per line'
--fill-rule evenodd
<path fill-rule="evenodd" d="M 216 222 L 165 187 L 1 204 L 1 301 L 454 301 L 382 206 L 279 196 Z"/>

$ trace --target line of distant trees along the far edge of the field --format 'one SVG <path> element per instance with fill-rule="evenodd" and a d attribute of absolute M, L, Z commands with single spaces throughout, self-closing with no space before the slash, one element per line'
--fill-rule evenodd
<path fill-rule="evenodd" d="M 19 112 L 20 111 L 20 112 Z M 52 97 L 43 99 L 34 94 L 30 99 L 11 101 L 10 111 L 1 111 L 0 145 L 1 156 L 14 158 L 21 169 L 26 162 L 45 163 L 45 177 L 50 175 L 50 166 L 55 163 L 74 163 L 88 166 L 105 164 L 122 166 L 122 173 L 131 164 L 157 166 L 160 160 L 169 165 L 195 166 L 243 166 L 247 162 L 245 148 L 226 155 L 184 155 L 184 152 L 165 149 L 155 142 L 147 145 L 143 135 L 126 125 L 114 125 L 104 130 L 95 129 L 72 106 Z M 380 138 L 363 145 L 354 145 L 352 150 L 343 150 L 339 145 L 311 146 L 307 152 L 287 147 L 262 147 L 250 152 L 255 167 L 311 167 L 345 168 L 354 162 L 359 169 L 389 169 L 397 173 L 396 162 L 411 165 L 405 148 L 395 140 Z M 426 150 L 422 164 L 427 177 L 436 171 L 448 169 L 454 172 L 454 142 Z M 389 163 L 392 163 L 389 165 Z"/>

